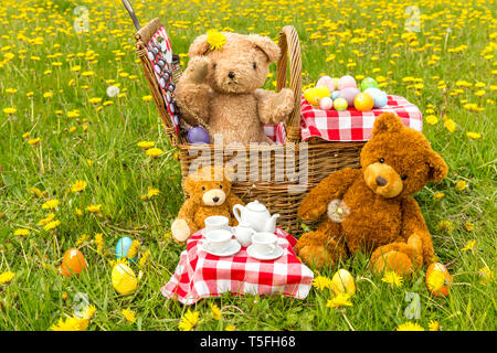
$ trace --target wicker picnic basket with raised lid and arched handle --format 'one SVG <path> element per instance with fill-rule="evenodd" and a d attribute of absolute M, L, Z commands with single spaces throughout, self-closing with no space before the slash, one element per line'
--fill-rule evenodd
<path fill-rule="evenodd" d="M 184 180 L 189 173 L 191 163 L 197 158 L 202 158 L 202 154 L 191 153 L 192 150 L 199 147 L 190 145 L 187 141 L 186 131 L 178 129 L 178 126 L 175 126 L 173 120 L 171 120 L 171 111 L 168 109 L 168 103 L 163 97 L 148 56 L 147 44 L 161 28 L 162 24 L 160 21 L 155 19 L 139 29 L 135 34 L 136 51 L 142 64 L 145 77 L 149 84 L 160 118 L 163 121 L 166 132 L 171 145 L 179 150 L 181 173 Z M 282 57 L 277 62 L 276 90 L 279 92 L 282 88 L 288 86 L 295 94 L 295 108 L 285 125 L 286 140 L 284 146 L 257 145 L 256 147 L 251 146 L 246 148 L 242 152 L 245 154 L 242 158 L 245 158 L 247 165 L 250 165 L 251 154 L 254 156 L 254 153 L 257 153 L 263 158 L 255 165 L 258 169 L 257 172 L 254 172 L 252 168 L 246 168 L 246 181 L 235 180 L 233 182 L 233 190 L 244 202 L 258 200 L 267 206 L 271 213 L 278 213 L 281 215 L 278 218 L 279 227 L 292 234 L 299 234 L 302 229 L 298 224 L 297 208 L 306 192 L 336 170 L 347 167 L 358 168 L 359 154 L 363 142 L 329 142 L 320 139 L 311 139 L 307 143 L 299 143 L 302 57 L 298 34 L 295 28 L 286 25 L 281 30 L 278 45 L 282 50 Z M 173 76 L 177 79 L 181 74 L 179 63 L 177 62 L 176 65 L 173 63 L 172 66 L 175 72 Z M 289 72 L 288 83 L 287 72 Z M 179 110 L 181 110 L 181 106 L 179 106 Z M 292 161 L 285 160 L 282 163 L 281 152 L 283 148 L 286 151 L 288 149 L 293 151 L 294 158 Z M 212 152 L 207 153 L 207 156 L 211 156 L 210 162 L 214 164 L 214 146 L 203 145 L 201 149 L 204 152 L 205 149 Z M 223 163 L 228 162 L 233 156 L 237 156 L 236 153 L 240 153 L 240 150 L 230 150 L 230 147 L 226 147 L 224 149 Z M 305 163 L 300 163 L 303 153 L 307 156 L 307 162 Z M 262 175 L 263 170 L 265 171 L 264 175 Z M 275 178 L 276 174 L 284 175 L 284 179 Z M 305 184 L 302 182 L 302 179 L 296 178 L 296 175 L 304 174 L 307 178 Z M 188 195 L 186 196 L 188 197 Z"/>

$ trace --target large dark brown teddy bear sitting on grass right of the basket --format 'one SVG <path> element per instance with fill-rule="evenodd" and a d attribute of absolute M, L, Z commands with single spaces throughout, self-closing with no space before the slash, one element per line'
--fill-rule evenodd
<path fill-rule="evenodd" d="M 411 195 L 445 178 L 444 160 L 423 133 L 385 113 L 374 121 L 360 161 L 362 169 L 334 172 L 304 199 L 298 208 L 303 220 L 327 216 L 298 239 L 297 254 L 321 267 L 372 249 L 370 266 L 377 272 L 406 274 L 431 263 L 432 237 Z"/>

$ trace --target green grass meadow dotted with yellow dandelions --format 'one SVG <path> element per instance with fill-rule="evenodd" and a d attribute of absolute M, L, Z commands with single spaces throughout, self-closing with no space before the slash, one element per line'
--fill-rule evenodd
<path fill-rule="evenodd" d="M 382 76 L 388 93 L 406 97 L 424 117 L 437 116 L 436 125 L 424 122 L 423 132 L 443 154 L 450 174 L 415 197 L 440 260 L 445 264 L 461 255 L 450 267 L 455 281 L 451 295 L 430 295 L 425 268 L 404 278 L 401 288 L 392 288 L 367 269 L 369 254 L 358 254 L 320 271 L 331 277 L 338 268 L 346 268 L 356 277 L 353 307 L 327 308 L 330 292 L 315 288 L 305 300 L 224 295 L 191 308 L 166 300 L 159 288 L 183 250 L 165 236 L 182 203 L 179 161 L 154 103 L 142 99 L 150 93 L 136 62 L 130 19 L 119 1 L 53 1 L 49 6 L 9 0 L 0 6 L 0 274 L 10 270 L 15 276 L 0 285 L 1 330 L 47 330 L 61 317 L 72 315 L 78 292 L 86 293 L 97 309 L 89 330 L 178 330 L 188 309 L 200 312 L 195 330 L 224 330 L 230 324 L 237 330 L 393 330 L 408 321 L 408 292 L 420 295 L 421 318 L 413 321 L 424 328 L 436 320 L 443 330 L 496 330 L 496 281 L 483 285 L 478 275 L 484 266 L 491 271 L 496 268 L 494 2 L 419 2 L 417 45 L 403 36 L 404 9 L 410 2 L 208 1 L 200 6 L 147 1 L 146 7 L 133 2 L 141 23 L 155 17 L 162 20 L 177 53 L 186 53 L 194 36 L 211 28 L 276 38 L 278 29 L 293 24 L 302 40 L 305 85 L 315 83 L 321 73 L 380 81 Z M 88 9 L 87 33 L 74 32 L 76 6 Z M 454 51 L 461 45 L 467 47 Z M 113 51 L 123 54 L 120 61 Z M 8 53 L 14 54 L 10 61 L 4 56 Z M 331 54 L 336 57 L 326 61 Z M 71 71 L 75 65 L 82 66 L 78 73 Z M 93 75 L 84 76 L 84 72 Z M 130 76 L 123 77 L 123 73 Z M 272 73 L 265 85 L 269 89 L 274 88 L 274 65 Z M 472 86 L 458 86 L 459 81 Z M 423 87 L 414 88 L 419 83 Z M 106 88 L 112 84 L 120 84 L 126 95 L 108 98 Z M 9 93 L 9 88 L 17 92 Z M 475 95 L 478 90 L 484 95 Z M 47 92 L 53 92 L 51 98 L 43 97 Z M 94 97 L 102 101 L 91 104 Z M 113 104 L 99 108 L 105 100 Z M 482 110 L 468 110 L 466 103 Z M 6 108 L 17 111 L 7 114 Z M 80 116 L 68 118 L 73 109 Z M 444 127 L 444 115 L 455 121 L 454 132 Z M 467 131 L 479 132 L 482 138 L 472 140 Z M 24 132 L 40 142 L 30 146 Z M 136 146 L 142 140 L 155 141 L 165 154 L 147 158 Z M 70 191 L 76 180 L 87 182 L 81 195 Z M 455 184 L 462 180 L 467 188 L 458 191 Z M 30 193 L 33 186 L 44 195 Z M 159 189 L 160 194 L 144 201 L 140 196 L 148 186 Z M 440 192 L 444 197 L 435 201 L 433 195 Z M 38 225 L 49 213 L 41 207 L 47 199 L 60 201 L 54 213 L 61 225 L 54 231 Z M 102 215 L 85 211 L 91 203 L 102 205 Z M 76 208 L 82 210 L 81 216 Z M 437 228 L 445 220 L 452 222 L 451 232 Z M 474 224 L 470 232 L 464 227 L 467 222 Z M 13 235 L 19 228 L 31 233 Z M 106 255 L 96 253 L 96 233 L 104 234 Z M 56 271 L 62 255 L 82 234 L 89 235 L 80 247 L 89 267 L 78 277 L 62 277 Z M 151 252 L 139 289 L 128 297 L 118 296 L 110 284 L 109 260 L 121 236 L 139 239 L 140 254 Z M 476 240 L 473 250 L 461 252 L 470 239 Z M 212 303 L 222 309 L 220 321 L 211 313 Z M 121 315 L 127 308 L 136 312 L 135 323 Z"/>

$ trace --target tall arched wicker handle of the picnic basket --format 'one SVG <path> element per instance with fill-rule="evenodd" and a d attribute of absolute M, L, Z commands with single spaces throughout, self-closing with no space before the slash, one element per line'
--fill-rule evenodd
<path fill-rule="evenodd" d="M 300 140 L 300 101 L 302 101 L 302 56 L 298 33 L 293 25 L 285 25 L 279 32 L 278 45 L 282 55 L 277 62 L 276 92 L 286 87 L 286 72 L 289 58 L 288 87 L 294 92 L 294 110 L 286 122 L 286 139 L 289 142 Z"/>

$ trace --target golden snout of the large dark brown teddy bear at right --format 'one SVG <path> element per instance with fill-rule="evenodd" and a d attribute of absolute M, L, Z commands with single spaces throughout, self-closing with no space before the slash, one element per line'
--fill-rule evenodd
<path fill-rule="evenodd" d="M 403 190 L 401 176 L 387 163 L 372 163 L 364 171 L 366 184 L 377 194 L 391 199 Z"/>

